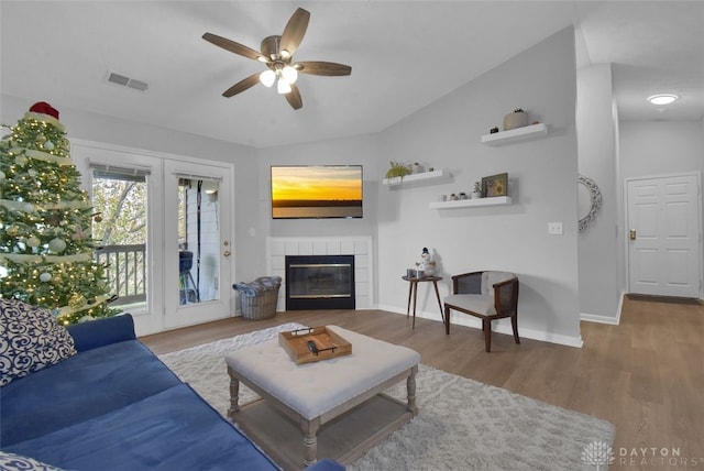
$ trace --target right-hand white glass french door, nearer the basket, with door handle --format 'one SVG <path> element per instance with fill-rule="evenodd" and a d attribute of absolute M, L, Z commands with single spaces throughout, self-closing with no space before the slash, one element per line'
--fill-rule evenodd
<path fill-rule="evenodd" d="M 164 163 L 164 327 L 231 313 L 231 168 Z M 173 289 L 176 287 L 177 289 Z"/>

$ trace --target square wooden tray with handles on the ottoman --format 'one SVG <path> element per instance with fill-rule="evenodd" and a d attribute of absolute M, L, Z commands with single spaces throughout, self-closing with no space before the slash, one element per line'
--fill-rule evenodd
<path fill-rule="evenodd" d="M 309 342 L 314 342 L 315 348 L 309 347 Z M 327 327 L 310 327 L 280 332 L 278 344 L 286 350 L 296 364 L 329 360 L 352 353 L 352 343 Z"/>

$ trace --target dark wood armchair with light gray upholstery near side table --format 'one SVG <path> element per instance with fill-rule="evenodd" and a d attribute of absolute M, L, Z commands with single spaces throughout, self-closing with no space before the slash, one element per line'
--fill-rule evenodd
<path fill-rule="evenodd" d="M 492 350 L 492 320 L 510 317 L 518 337 L 518 277 L 508 272 L 472 272 L 452 276 L 452 295 L 444 298 L 444 329 L 450 335 L 450 310 L 482 319 L 486 351 Z"/>

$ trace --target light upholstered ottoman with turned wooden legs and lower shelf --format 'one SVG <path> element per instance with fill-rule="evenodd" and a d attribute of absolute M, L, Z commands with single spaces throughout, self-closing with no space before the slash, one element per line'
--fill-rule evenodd
<path fill-rule="evenodd" d="M 271 340 L 226 358 L 229 416 L 285 469 L 300 469 L 318 456 L 349 464 L 418 413 L 416 351 L 327 327 L 352 343 L 351 354 L 297 365 Z M 382 394 L 404 379 L 406 403 Z M 240 382 L 262 399 L 240 407 Z"/>

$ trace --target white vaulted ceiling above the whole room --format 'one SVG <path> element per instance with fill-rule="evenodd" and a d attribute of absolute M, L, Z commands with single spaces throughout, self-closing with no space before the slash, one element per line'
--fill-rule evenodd
<path fill-rule="evenodd" d="M 258 50 L 297 7 L 311 17 L 295 58 L 352 75 L 301 76 L 298 111 L 261 85 L 223 98 L 264 67 L 201 35 Z M 704 116 L 700 1 L 3 0 L 0 21 L 4 95 L 257 147 L 381 131 L 571 25 L 580 66 L 614 64 L 622 119 Z M 148 89 L 110 84 L 110 72 Z M 645 101 L 664 91 L 681 99 Z"/>

